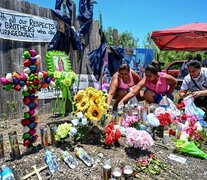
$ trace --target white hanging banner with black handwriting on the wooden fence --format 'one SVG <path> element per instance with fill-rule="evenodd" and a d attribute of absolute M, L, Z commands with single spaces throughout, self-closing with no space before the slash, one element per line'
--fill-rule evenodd
<path fill-rule="evenodd" d="M 48 18 L 0 8 L 0 38 L 27 42 L 50 42 L 57 22 Z"/>

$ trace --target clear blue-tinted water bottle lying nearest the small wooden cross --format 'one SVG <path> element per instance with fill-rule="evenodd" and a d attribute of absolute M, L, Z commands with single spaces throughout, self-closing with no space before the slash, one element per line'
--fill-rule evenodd
<path fill-rule="evenodd" d="M 48 168 L 52 174 L 55 174 L 59 171 L 58 163 L 55 159 L 53 152 L 46 149 L 45 152 L 45 162 L 48 165 Z"/>

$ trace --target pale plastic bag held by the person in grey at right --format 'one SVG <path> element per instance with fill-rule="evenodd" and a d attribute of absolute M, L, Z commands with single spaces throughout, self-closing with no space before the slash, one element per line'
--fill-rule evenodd
<path fill-rule="evenodd" d="M 194 104 L 192 96 L 187 96 L 183 102 L 185 104 L 185 113 L 188 116 L 198 116 L 198 119 L 203 119 L 205 112 Z"/>

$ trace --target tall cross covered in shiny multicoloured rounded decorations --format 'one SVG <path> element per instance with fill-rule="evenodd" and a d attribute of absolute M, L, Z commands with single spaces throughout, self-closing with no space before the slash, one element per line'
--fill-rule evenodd
<path fill-rule="evenodd" d="M 13 88 L 16 91 L 22 91 L 24 119 L 21 121 L 23 128 L 23 144 L 31 147 L 37 140 L 36 127 L 38 125 L 38 111 L 36 95 L 40 88 L 54 87 L 54 77 L 49 76 L 47 72 L 39 72 L 41 56 L 37 55 L 35 50 L 25 51 L 23 53 L 25 69 L 21 73 L 13 72 L 1 77 L 0 82 L 4 85 L 3 89 L 9 91 Z"/>

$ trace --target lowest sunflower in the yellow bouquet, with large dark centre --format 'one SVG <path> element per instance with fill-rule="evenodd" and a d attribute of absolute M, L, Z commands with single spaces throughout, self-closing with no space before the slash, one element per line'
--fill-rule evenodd
<path fill-rule="evenodd" d="M 91 106 L 87 113 L 86 116 L 91 120 L 91 121 L 98 121 L 102 117 L 102 111 L 99 107 L 93 105 Z"/>

